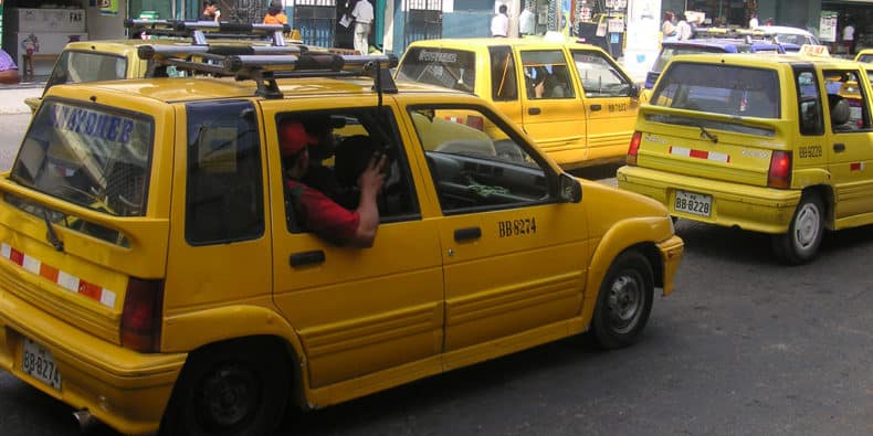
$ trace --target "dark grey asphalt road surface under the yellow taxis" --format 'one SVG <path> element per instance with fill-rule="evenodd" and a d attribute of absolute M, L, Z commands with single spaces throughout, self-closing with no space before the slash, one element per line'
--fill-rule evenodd
<path fill-rule="evenodd" d="M 0 117 L 1 168 L 15 117 Z M 590 176 L 609 183 L 612 170 Z M 559 341 L 292 414 L 282 434 L 873 434 L 873 226 L 829 233 L 800 267 L 776 263 L 764 235 L 683 220 L 676 231 L 676 290 L 655 299 L 638 344 Z M 6 373 L 0 410 L 4 436 L 78 434 L 70 407 Z"/>

